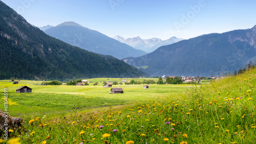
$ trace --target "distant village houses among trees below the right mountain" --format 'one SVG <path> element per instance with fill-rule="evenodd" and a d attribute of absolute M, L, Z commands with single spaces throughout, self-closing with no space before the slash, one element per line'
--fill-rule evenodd
<path fill-rule="evenodd" d="M 175 76 L 168 76 L 169 78 L 175 78 Z M 162 79 L 165 80 L 165 75 L 162 76 Z M 199 82 L 199 81 L 202 81 L 202 80 L 218 80 L 218 79 L 222 79 L 223 77 L 201 77 L 201 76 L 198 76 L 198 77 L 185 77 L 185 76 L 181 76 L 182 78 L 182 81 L 184 83 L 188 83 L 188 82 Z"/>

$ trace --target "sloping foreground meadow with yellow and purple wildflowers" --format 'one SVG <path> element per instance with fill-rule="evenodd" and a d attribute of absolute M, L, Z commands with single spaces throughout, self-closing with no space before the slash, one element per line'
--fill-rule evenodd
<path fill-rule="evenodd" d="M 191 85 L 166 102 L 142 103 L 93 117 L 78 113 L 27 117 L 24 127 L 9 130 L 13 138 L 8 143 L 255 143 L 251 73 Z"/>

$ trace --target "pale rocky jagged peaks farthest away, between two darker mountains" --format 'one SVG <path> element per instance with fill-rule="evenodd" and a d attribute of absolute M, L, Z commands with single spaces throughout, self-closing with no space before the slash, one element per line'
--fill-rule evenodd
<path fill-rule="evenodd" d="M 183 40 L 182 38 L 177 37 L 171 37 L 167 40 L 161 40 L 159 38 L 142 39 L 139 36 L 124 39 L 123 37 L 118 35 L 113 38 L 130 46 L 133 46 L 135 49 L 143 50 L 147 53 L 155 51 L 160 46 L 173 44 L 175 42 Z"/>

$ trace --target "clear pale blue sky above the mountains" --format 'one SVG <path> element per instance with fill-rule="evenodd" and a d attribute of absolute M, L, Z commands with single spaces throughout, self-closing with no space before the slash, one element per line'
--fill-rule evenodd
<path fill-rule="evenodd" d="M 74 21 L 110 37 L 188 39 L 256 25 L 256 1 L 253 0 L 1 1 L 34 26 Z"/>

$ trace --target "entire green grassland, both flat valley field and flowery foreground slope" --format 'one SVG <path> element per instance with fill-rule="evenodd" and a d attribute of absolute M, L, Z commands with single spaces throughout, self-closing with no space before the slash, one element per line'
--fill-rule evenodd
<path fill-rule="evenodd" d="M 102 85 L 32 84 L 31 95 L 17 95 L 18 85 L 5 81 L 1 88 L 8 85 L 18 104 L 10 111 L 24 119 L 10 132 L 22 143 L 255 143 L 255 75 L 251 69 L 209 85 L 120 85 L 123 94 Z"/>

